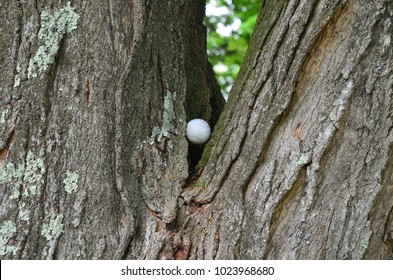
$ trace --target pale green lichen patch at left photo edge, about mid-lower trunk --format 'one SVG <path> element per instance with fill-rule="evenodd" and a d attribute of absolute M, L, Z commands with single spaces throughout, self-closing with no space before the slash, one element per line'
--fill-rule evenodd
<path fill-rule="evenodd" d="M 0 168 L 0 184 L 11 187 L 10 199 L 19 197 L 21 187 L 24 187 L 23 195 L 28 197 L 35 195 L 37 188 L 44 184 L 44 174 L 43 160 L 29 151 L 25 164 L 7 163 Z"/>

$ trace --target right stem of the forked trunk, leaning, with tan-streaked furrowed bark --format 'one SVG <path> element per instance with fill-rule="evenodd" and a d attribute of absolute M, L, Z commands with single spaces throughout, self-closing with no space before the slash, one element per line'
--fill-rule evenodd
<path fill-rule="evenodd" d="M 203 204 L 191 257 L 392 258 L 392 14 L 264 1 L 204 187 L 184 194 Z"/>

